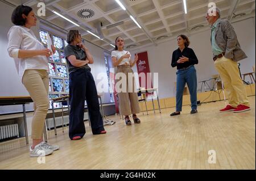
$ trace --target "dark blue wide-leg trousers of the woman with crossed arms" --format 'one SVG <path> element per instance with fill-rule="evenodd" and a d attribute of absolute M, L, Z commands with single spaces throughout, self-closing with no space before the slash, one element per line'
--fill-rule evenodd
<path fill-rule="evenodd" d="M 75 136 L 83 137 L 85 134 L 84 126 L 84 106 L 85 99 L 88 106 L 90 125 L 93 134 L 100 134 L 104 131 L 98 94 L 96 85 L 88 69 L 79 69 L 69 74 L 69 138 Z"/>

